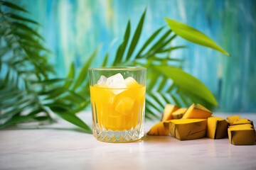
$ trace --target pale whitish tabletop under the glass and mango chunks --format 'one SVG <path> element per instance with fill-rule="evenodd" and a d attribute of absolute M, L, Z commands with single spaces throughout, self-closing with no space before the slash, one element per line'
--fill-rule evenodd
<path fill-rule="evenodd" d="M 256 113 L 240 115 L 256 123 Z M 90 113 L 80 116 L 91 125 Z M 156 121 L 147 121 L 145 131 Z M 99 142 L 60 120 L 46 128 L 0 130 L 0 169 L 256 169 L 256 145 L 146 135 L 140 142 Z"/>

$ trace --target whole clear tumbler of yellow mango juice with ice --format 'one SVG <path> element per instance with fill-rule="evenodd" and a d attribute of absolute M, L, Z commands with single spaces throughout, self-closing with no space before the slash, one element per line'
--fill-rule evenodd
<path fill-rule="evenodd" d="M 92 132 L 103 142 L 132 142 L 144 135 L 146 68 L 90 68 Z"/>

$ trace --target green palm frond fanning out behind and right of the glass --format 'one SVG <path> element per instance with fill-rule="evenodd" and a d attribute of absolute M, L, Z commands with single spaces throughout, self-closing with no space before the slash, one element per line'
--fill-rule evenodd
<path fill-rule="evenodd" d="M 172 70 L 181 70 L 183 63 L 183 59 L 171 57 L 171 52 L 186 47 L 184 45 L 171 45 L 171 42 L 177 37 L 176 33 L 171 29 L 161 27 L 142 43 L 142 47 L 137 45 L 142 35 L 145 14 L 146 10 L 142 14 L 133 34 L 131 33 L 131 23 L 128 21 L 123 41 L 115 53 L 114 62 L 108 66 L 135 65 L 148 69 L 146 118 L 159 118 L 166 103 L 174 103 L 179 107 L 188 107 L 192 102 L 202 103 L 204 106 L 208 106 L 208 108 L 216 106 L 217 103 L 214 96 L 206 86 L 203 86 L 201 81 L 185 72 L 170 74 Z M 134 51 L 137 51 L 137 54 L 134 54 Z M 106 66 L 108 59 L 109 55 L 107 54 L 104 58 L 104 66 Z M 174 77 L 175 74 L 181 79 L 176 79 Z M 193 87 L 196 89 L 186 88 L 186 86 L 189 87 L 191 84 L 188 84 L 187 81 L 181 81 L 182 79 L 192 80 Z M 198 93 L 195 93 L 195 91 Z M 202 91 L 206 91 L 206 93 L 203 94 L 201 93 Z"/>

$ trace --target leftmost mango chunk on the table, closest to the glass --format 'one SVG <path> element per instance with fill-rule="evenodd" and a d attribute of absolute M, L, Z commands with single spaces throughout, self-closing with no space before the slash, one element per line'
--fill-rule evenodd
<path fill-rule="evenodd" d="M 156 123 L 146 135 L 151 136 L 169 136 L 169 123 L 159 122 Z"/>

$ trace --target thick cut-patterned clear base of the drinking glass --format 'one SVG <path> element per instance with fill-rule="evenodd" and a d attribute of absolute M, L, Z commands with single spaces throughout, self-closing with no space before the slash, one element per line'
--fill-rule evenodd
<path fill-rule="evenodd" d="M 102 142 L 134 142 L 142 139 L 144 128 L 131 128 L 130 130 L 113 131 L 99 128 L 93 128 L 93 135 Z"/>

